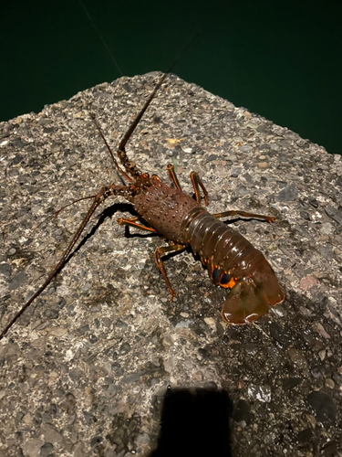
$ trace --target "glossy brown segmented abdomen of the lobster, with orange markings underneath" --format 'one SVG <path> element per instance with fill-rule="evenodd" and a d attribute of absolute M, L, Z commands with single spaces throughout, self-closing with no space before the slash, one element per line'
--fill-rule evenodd
<path fill-rule="evenodd" d="M 264 260 L 263 254 L 239 232 L 194 208 L 184 219 L 182 232 L 192 250 L 201 256 L 214 284 L 233 287 L 234 278 L 247 277 Z"/>

